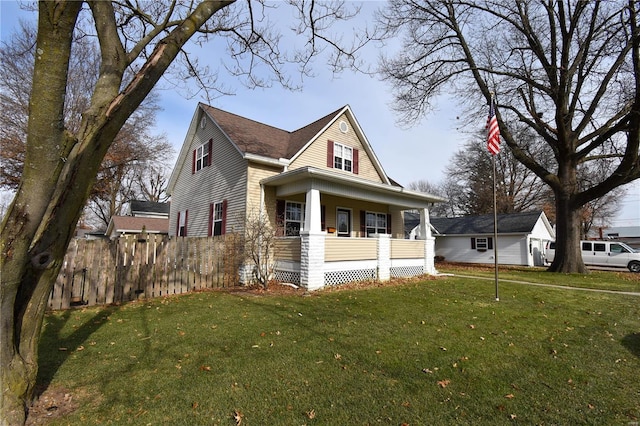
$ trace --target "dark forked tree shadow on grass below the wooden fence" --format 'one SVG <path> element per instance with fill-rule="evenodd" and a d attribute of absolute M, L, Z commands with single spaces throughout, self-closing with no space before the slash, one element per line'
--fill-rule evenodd
<path fill-rule="evenodd" d="M 66 324 L 73 319 L 76 311 L 67 309 L 61 313 L 48 313 L 45 318 L 38 350 L 38 377 L 36 379 L 35 398 L 38 398 L 51 384 L 56 372 L 65 360 L 102 327 L 109 315 L 117 307 L 97 310 L 93 318 L 84 321 L 73 332 L 65 335 Z"/>

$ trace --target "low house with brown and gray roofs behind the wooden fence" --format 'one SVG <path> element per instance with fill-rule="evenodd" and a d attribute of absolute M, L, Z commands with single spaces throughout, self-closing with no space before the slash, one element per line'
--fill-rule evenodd
<path fill-rule="evenodd" d="M 127 234 L 169 233 L 169 203 L 155 203 L 151 201 L 131 201 L 130 216 L 112 216 L 105 235 L 118 238 Z"/>

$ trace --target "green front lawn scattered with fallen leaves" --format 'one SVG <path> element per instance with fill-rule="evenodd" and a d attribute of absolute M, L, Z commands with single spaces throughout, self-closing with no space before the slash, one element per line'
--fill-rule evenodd
<path fill-rule="evenodd" d="M 493 282 L 449 277 L 53 313 L 39 381 L 79 402 L 51 423 L 65 425 L 639 420 L 640 297 L 500 288 L 499 302 Z"/>

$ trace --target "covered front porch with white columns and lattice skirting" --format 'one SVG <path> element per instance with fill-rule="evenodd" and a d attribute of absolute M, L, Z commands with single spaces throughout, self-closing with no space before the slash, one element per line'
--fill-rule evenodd
<path fill-rule="evenodd" d="M 443 199 L 312 167 L 263 179 L 261 185 L 265 204 L 273 205 L 273 198 L 279 206 L 278 281 L 315 290 L 436 273 L 429 207 Z M 296 209 L 302 210 L 300 217 Z M 420 212 L 423 239 L 404 239 L 406 210 Z"/>

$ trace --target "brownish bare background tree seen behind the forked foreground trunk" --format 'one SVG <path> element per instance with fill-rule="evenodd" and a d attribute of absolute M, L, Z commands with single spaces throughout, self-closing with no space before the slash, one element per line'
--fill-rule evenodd
<path fill-rule="evenodd" d="M 35 27 L 23 22 L 20 31 L 0 48 L 0 99 L 4 105 L 0 115 L 0 187 L 11 190 L 17 189 L 24 165 L 35 40 Z M 77 131 L 98 79 L 100 51 L 94 38 L 77 30 L 69 61 L 64 122 Z M 147 96 L 107 151 L 86 206 L 86 216 L 98 227 L 105 229 L 111 216 L 121 214 L 127 202 L 141 198 L 134 178 L 144 175 L 148 164 L 163 162 L 173 152 L 166 137 L 149 134 L 159 109 L 158 99 L 153 92 Z"/>

